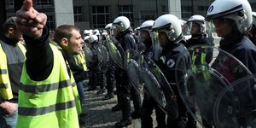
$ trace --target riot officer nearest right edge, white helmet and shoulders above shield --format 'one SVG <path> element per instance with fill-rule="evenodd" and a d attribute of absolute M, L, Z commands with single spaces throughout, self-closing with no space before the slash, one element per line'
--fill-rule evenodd
<path fill-rule="evenodd" d="M 256 46 L 246 36 L 253 23 L 250 3 L 244 0 L 214 1 L 208 9 L 207 20 L 213 23 L 218 37 L 222 38 L 219 48 L 256 73 Z"/>

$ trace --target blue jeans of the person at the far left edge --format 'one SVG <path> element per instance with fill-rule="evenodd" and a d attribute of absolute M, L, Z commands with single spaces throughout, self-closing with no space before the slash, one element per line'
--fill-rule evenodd
<path fill-rule="evenodd" d="M 0 128 L 15 128 L 18 117 L 18 108 L 14 113 L 8 115 L 0 108 Z"/>

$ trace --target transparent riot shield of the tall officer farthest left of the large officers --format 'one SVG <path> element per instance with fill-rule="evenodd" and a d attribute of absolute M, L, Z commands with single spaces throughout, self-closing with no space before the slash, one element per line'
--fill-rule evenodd
<path fill-rule="evenodd" d="M 125 50 L 115 38 L 107 38 L 107 46 L 111 59 L 116 62 L 119 67 L 125 69 Z"/>

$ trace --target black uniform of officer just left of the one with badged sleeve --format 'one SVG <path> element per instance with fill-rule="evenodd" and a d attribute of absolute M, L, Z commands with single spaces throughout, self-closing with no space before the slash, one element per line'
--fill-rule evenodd
<path fill-rule="evenodd" d="M 146 49 L 143 52 L 143 55 L 147 55 L 148 58 L 153 61 L 154 58 L 154 49 L 152 47 L 152 40 L 148 40 L 148 42 L 144 43 L 146 45 Z M 144 93 L 143 96 L 143 105 L 141 112 L 141 126 L 142 128 L 153 128 L 153 119 L 151 117 L 153 110 L 155 109 L 155 116 L 157 125 L 159 128 L 166 127 L 166 113 L 160 108 L 157 102 L 154 101 L 152 96 L 149 96 L 147 92 Z"/>

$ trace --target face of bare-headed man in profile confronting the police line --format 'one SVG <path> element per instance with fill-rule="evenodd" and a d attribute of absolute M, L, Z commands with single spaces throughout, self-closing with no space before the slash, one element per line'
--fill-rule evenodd
<path fill-rule="evenodd" d="M 73 29 L 71 31 L 71 37 L 69 39 L 62 38 L 61 40 L 63 49 L 68 55 L 78 55 L 83 50 L 84 40 L 78 30 Z"/>

